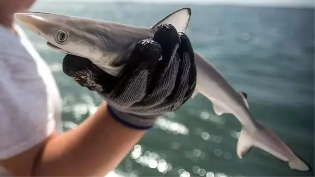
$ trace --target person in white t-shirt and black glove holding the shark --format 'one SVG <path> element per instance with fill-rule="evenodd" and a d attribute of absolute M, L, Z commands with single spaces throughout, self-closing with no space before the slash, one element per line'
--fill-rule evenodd
<path fill-rule="evenodd" d="M 104 177 L 196 86 L 187 35 L 160 25 L 140 41 L 118 77 L 67 54 L 63 72 L 104 102 L 73 130 L 60 133 L 60 95 L 46 63 L 19 38 L 13 15 L 33 0 L 0 0 L 0 177 Z M 24 45 L 24 46 L 23 46 Z M 33 51 L 34 53 L 34 51 Z"/>

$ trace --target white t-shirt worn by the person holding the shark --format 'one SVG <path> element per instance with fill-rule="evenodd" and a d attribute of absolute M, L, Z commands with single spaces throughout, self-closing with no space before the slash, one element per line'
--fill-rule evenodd
<path fill-rule="evenodd" d="M 0 159 L 62 132 L 61 98 L 53 75 L 24 32 L 0 25 Z M 10 177 L 0 166 L 0 177 Z"/>

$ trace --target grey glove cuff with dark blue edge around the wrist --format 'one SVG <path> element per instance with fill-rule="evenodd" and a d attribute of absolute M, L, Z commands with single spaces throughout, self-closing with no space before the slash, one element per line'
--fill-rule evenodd
<path fill-rule="evenodd" d="M 116 110 L 107 104 L 107 111 L 120 124 L 137 130 L 147 130 L 153 127 L 158 116 L 143 117 L 140 115 L 129 114 Z"/>

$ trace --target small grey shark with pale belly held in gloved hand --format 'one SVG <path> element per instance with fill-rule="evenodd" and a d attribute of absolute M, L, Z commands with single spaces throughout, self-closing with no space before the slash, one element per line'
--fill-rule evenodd
<path fill-rule="evenodd" d="M 15 18 L 46 39 L 47 45 L 54 50 L 88 58 L 105 72 L 117 76 L 135 45 L 142 39 L 152 38 L 158 25 L 172 24 L 178 32 L 185 32 L 191 9 L 179 9 L 150 28 L 40 12 L 16 13 Z M 197 85 L 192 98 L 201 93 L 212 102 L 217 115 L 230 113 L 240 121 L 242 130 L 237 143 L 240 159 L 252 147 L 257 147 L 288 162 L 291 169 L 310 170 L 276 134 L 255 121 L 249 112 L 245 93 L 233 89 L 222 74 L 198 53 L 195 53 L 195 62 Z"/>

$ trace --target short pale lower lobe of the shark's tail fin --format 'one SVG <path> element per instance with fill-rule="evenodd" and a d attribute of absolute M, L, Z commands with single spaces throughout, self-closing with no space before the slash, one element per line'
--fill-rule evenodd
<path fill-rule="evenodd" d="M 243 128 L 237 142 L 237 156 L 242 159 L 253 146 L 252 139 Z"/>

